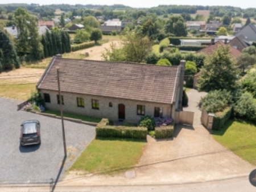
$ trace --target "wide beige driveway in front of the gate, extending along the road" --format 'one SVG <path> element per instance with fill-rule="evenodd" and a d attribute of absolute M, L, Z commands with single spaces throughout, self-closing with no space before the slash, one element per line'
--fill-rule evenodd
<path fill-rule="evenodd" d="M 129 157 L 127 157 L 129 158 Z M 68 174 L 64 185 L 164 185 L 249 176 L 255 166 L 217 143 L 205 128 L 177 126 L 171 140 L 147 137 L 138 164 L 117 176 Z"/>

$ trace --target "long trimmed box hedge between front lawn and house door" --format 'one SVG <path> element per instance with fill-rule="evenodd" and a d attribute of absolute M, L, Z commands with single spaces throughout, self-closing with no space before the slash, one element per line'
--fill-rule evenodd
<path fill-rule="evenodd" d="M 147 139 L 146 127 L 125 127 L 109 126 L 108 119 L 102 119 L 96 126 L 96 136 L 98 137 L 119 137 L 132 139 Z"/>

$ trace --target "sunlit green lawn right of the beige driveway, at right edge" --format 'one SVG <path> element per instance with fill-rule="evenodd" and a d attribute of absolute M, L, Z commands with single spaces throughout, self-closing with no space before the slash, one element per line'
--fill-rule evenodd
<path fill-rule="evenodd" d="M 229 120 L 220 131 L 213 131 L 213 137 L 243 160 L 256 165 L 256 124 Z"/>

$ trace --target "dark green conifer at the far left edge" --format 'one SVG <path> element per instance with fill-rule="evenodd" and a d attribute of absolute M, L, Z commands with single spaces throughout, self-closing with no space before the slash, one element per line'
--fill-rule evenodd
<path fill-rule="evenodd" d="M 20 62 L 14 45 L 5 32 L 0 30 L 0 71 L 2 69 L 17 69 L 20 67 Z"/>

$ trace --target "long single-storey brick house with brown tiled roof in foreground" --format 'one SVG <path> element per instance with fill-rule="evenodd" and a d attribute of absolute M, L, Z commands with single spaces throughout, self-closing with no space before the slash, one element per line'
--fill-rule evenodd
<path fill-rule="evenodd" d="M 138 123 L 145 115 L 175 119 L 175 110 L 182 110 L 184 68 L 185 61 L 179 66 L 156 66 L 58 56 L 36 88 L 49 110 L 59 111 L 61 102 L 64 112 L 110 120 Z"/>

